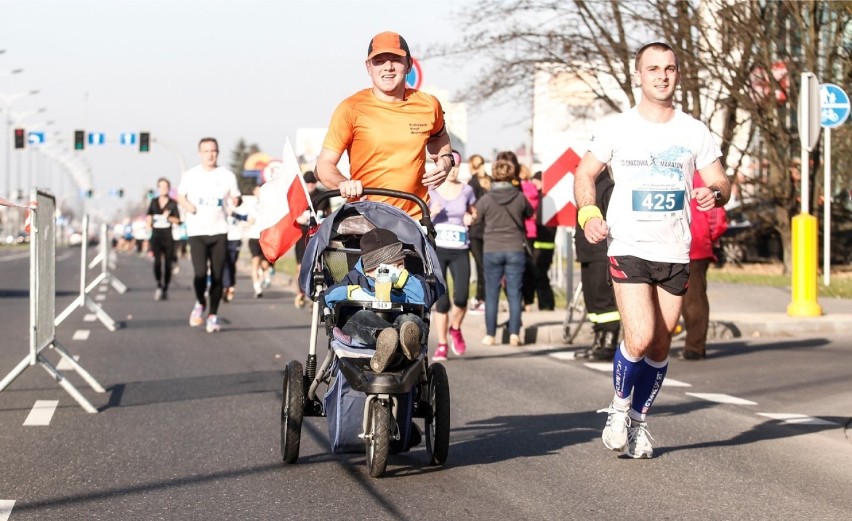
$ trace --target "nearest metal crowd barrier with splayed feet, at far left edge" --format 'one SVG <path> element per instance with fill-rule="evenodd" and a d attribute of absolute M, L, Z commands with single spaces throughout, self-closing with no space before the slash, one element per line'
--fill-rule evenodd
<path fill-rule="evenodd" d="M 34 190 L 30 198 L 27 221 L 30 228 L 30 352 L 12 372 L 0 381 L 0 392 L 28 367 L 41 365 L 77 403 L 89 413 L 97 409 L 68 381 L 44 356 L 46 349 L 54 349 L 98 393 L 106 392 L 101 384 L 56 339 L 56 199 Z M 5 202 L 4 202 L 5 204 Z M 8 205 L 7 205 L 8 206 Z"/>

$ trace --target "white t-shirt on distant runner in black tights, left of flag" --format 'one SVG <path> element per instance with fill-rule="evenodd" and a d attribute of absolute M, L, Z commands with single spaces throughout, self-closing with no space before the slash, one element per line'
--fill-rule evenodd
<path fill-rule="evenodd" d="M 208 172 L 201 165 L 195 166 L 183 173 L 178 194 L 195 205 L 195 213 L 185 216 L 189 237 L 228 233 L 231 198 L 240 195 L 233 172 L 222 167 Z"/>

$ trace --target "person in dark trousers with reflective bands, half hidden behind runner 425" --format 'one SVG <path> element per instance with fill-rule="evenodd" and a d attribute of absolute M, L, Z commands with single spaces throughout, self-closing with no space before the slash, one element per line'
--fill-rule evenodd
<path fill-rule="evenodd" d="M 602 172 L 595 181 L 595 205 L 606 215 L 609 198 L 615 184 L 609 170 Z M 621 333 L 621 315 L 615 304 L 615 293 L 609 279 L 607 243 L 589 244 L 580 225 L 574 234 L 574 248 L 580 262 L 580 281 L 583 284 L 583 299 L 592 322 L 595 338 L 592 347 L 577 354 L 577 358 L 611 361 L 618 348 Z"/>

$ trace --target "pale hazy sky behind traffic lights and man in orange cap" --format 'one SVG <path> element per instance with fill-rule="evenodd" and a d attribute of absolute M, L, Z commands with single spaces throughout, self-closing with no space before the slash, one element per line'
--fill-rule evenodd
<path fill-rule="evenodd" d="M 91 167 L 90 212 L 139 200 L 181 165 L 198 163 L 197 143 L 218 138 L 220 164 L 237 141 L 280 157 L 298 128 L 324 128 L 345 97 L 370 86 L 370 38 L 392 30 L 415 58 L 459 41 L 465 2 L 442 0 L 0 0 L 0 108 L 10 127 L 45 132 L 62 154 Z M 481 68 L 421 61 L 423 90 L 453 97 Z M 22 72 L 9 74 L 15 69 Z M 35 95 L 22 95 L 38 90 Z M 11 100 L 11 106 L 8 106 Z M 529 104 L 468 107 L 468 153 L 524 143 Z M 44 108 L 44 112 L 35 112 Z M 35 112 L 35 113 L 34 113 Z M 23 119 L 21 120 L 20 118 Z M 10 120 L 13 120 L 10 124 Z M 73 132 L 103 132 L 107 143 L 73 148 Z M 151 152 L 118 143 L 149 131 Z M 11 137 L 4 137 L 11 140 Z M 60 141 L 61 140 L 61 141 Z M 3 194 L 48 188 L 60 203 L 78 197 L 55 161 L 0 147 Z M 10 168 L 7 170 L 6 165 Z M 20 181 L 19 181 L 20 180 Z M 24 186 L 20 186 L 24 185 Z M 114 193 L 123 189 L 126 199 Z"/>

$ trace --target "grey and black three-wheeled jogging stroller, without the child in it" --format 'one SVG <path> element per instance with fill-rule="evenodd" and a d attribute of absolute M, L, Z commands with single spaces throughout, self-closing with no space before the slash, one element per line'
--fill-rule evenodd
<path fill-rule="evenodd" d="M 394 232 L 402 241 L 405 267 L 410 273 L 423 275 L 433 287 L 446 286 L 436 269 L 438 260 L 431 244 L 434 228 L 426 204 L 406 192 L 365 189 L 364 194 L 414 201 L 424 217 L 417 223 L 402 210 L 385 203 L 346 203 L 326 218 L 309 240 L 299 285 L 314 302 L 310 348 L 304 371 L 295 360 L 284 370 L 281 457 L 287 463 L 295 463 L 303 418 L 325 416 L 332 452 L 366 451 L 369 474 L 379 477 L 385 471 L 389 454 L 405 452 L 417 443 L 421 434 L 413 418 L 424 420 L 429 463 L 441 465 L 446 461 L 450 442 L 447 373 L 441 364 L 428 363 L 425 345 L 417 359 L 407 361 L 402 367 L 373 372 L 369 364 L 372 349 L 340 345 L 332 332 L 335 327 L 343 327 L 361 309 L 370 309 L 388 322 L 401 313 L 414 313 L 428 326 L 429 309 L 417 304 L 351 300 L 338 302 L 334 309 L 321 309 L 320 296 L 355 266 L 361 256 L 361 236 L 376 227 Z M 321 200 L 337 195 L 328 192 Z M 329 346 L 325 360 L 317 369 L 320 322 L 325 326 Z M 327 389 L 324 397 L 318 393 L 321 385 Z"/>

